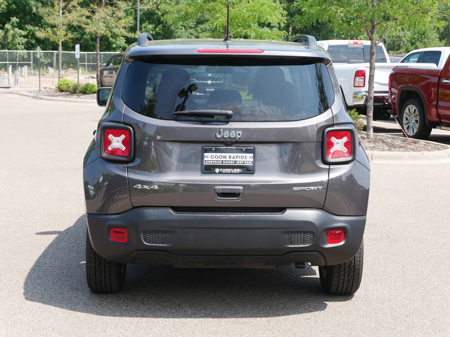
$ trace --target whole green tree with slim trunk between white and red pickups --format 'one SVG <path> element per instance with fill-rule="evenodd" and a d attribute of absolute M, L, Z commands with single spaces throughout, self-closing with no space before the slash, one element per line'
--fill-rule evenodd
<path fill-rule="evenodd" d="M 326 22 L 340 32 L 366 35 L 371 41 L 368 77 L 367 136 L 373 136 L 373 80 L 375 48 L 392 29 L 408 27 L 411 22 L 435 22 L 439 0 L 300 0 L 297 9 L 301 22 Z M 448 1 L 445 1 L 448 2 Z"/>

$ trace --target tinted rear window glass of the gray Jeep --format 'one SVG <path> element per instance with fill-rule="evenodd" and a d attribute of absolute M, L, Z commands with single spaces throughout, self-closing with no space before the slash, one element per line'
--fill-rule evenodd
<path fill-rule="evenodd" d="M 122 99 L 140 114 L 177 121 L 295 121 L 317 116 L 334 102 L 322 62 L 291 65 L 272 60 L 264 65 L 210 59 L 191 64 L 134 60 L 124 79 Z"/>

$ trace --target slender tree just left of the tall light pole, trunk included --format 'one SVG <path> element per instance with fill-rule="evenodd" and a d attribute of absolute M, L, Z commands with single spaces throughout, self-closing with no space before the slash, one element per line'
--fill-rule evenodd
<path fill-rule="evenodd" d="M 91 4 L 82 8 L 80 25 L 87 34 L 96 37 L 97 53 L 97 85 L 100 85 L 100 41 L 105 36 L 114 36 L 115 39 L 123 39 L 130 36 L 127 31 L 131 27 L 134 12 L 130 11 L 129 1 L 91 1 Z"/>

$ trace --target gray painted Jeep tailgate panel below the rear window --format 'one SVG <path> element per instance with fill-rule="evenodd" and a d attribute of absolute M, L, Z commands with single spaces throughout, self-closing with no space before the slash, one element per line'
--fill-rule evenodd
<path fill-rule="evenodd" d="M 134 207 L 323 207 L 329 167 L 321 137 L 330 111 L 304 121 L 226 125 L 149 124 L 134 116 L 142 131 L 127 165 Z"/>

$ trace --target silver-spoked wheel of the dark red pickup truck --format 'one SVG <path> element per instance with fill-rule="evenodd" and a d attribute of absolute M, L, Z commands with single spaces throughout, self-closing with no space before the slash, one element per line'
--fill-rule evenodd
<path fill-rule="evenodd" d="M 431 128 L 427 126 L 423 107 L 417 98 L 407 100 L 401 110 L 401 127 L 406 135 L 411 138 L 427 139 Z"/>

